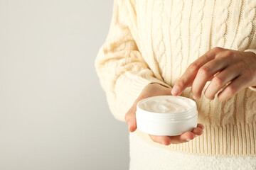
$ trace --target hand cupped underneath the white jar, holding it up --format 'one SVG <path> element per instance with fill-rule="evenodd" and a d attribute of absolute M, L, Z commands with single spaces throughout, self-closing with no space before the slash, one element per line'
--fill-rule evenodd
<path fill-rule="evenodd" d="M 171 95 L 171 89 L 162 86 L 160 84 L 149 84 L 144 87 L 141 94 L 137 98 L 136 101 L 134 101 L 134 104 L 132 108 L 129 109 L 127 114 L 125 115 L 125 121 L 127 122 L 129 126 L 129 132 L 134 132 L 137 129 L 136 125 L 136 109 L 137 109 L 137 103 L 141 101 L 144 98 L 148 98 L 151 96 L 164 96 L 164 95 Z M 151 140 L 154 142 L 158 142 L 163 145 L 170 145 L 188 142 L 189 140 L 193 140 L 196 135 L 202 135 L 203 134 L 203 125 L 201 123 L 198 123 L 197 128 L 194 128 L 191 132 L 183 132 L 181 135 L 177 136 L 158 136 L 158 135 L 149 135 L 151 137 Z"/>

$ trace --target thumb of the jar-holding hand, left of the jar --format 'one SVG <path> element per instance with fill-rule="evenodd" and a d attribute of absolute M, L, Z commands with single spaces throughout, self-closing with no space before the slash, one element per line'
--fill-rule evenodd
<path fill-rule="evenodd" d="M 134 132 L 137 129 L 136 124 L 136 106 L 133 105 L 132 108 L 125 114 L 125 121 L 128 124 L 129 132 Z"/>

